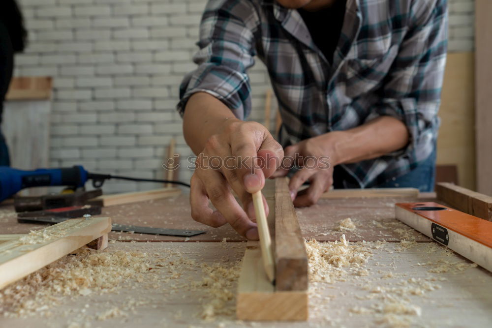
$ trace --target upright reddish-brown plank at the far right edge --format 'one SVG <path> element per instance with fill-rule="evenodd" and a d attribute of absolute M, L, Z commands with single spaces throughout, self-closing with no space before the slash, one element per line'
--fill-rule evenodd
<path fill-rule="evenodd" d="M 475 1 L 477 191 L 492 196 L 492 1 Z"/>

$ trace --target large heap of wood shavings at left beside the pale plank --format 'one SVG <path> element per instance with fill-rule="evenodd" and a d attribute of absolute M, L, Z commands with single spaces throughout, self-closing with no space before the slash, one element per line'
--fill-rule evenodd
<path fill-rule="evenodd" d="M 145 253 L 80 249 L 1 290 L 0 313 L 49 315 L 47 304 L 56 304 L 62 296 L 115 292 L 129 278 L 143 280 L 149 268 Z"/>

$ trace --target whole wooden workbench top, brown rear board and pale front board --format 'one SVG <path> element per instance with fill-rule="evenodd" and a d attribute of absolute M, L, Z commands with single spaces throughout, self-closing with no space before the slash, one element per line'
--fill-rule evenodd
<path fill-rule="evenodd" d="M 332 283 L 310 283 L 310 317 L 307 323 L 255 323 L 265 327 L 490 327 L 492 322 L 492 274 L 432 242 L 394 218 L 395 202 L 417 199 L 322 199 L 310 208 L 298 209 L 306 239 L 349 241 L 368 249 L 367 264 L 341 270 Z M 426 199 L 427 200 L 427 199 Z M 432 199 L 429 199 L 432 200 Z M 419 199 L 422 201 L 422 199 Z M 236 268 L 245 248 L 243 239 L 228 226 L 212 229 L 190 218 L 186 195 L 104 209 L 115 223 L 161 228 L 203 229 L 207 233 L 183 238 L 115 234 L 104 252 L 120 250 L 146 253 L 153 268 L 148 279 L 126 281 L 113 293 L 65 297 L 57 305 L 29 318 L 4 318 L 0 327 L 244 327 L 236 322 L 234 297 L 220 313 L 204 320 L 204 307 L 217 301 L 211 289 L 213 277 L 207 268 Z M 340 220 L 350 217 L 357 229 L 339 231 Z M 26 233 L 41 226 L 18 224 L 9 206 L 0 206 L 4 233 Z M 222 241 L 226 238 L 227 242 Z M 381 242 L 386 240 L 390 242 Z M 414 240 L 419 242 L 399 242 Z M 202 242 L 194 242 L 202 241 Z M 349 243 L 356 247 L 356 243 Z M 185 259 L 185 260 L 184 260 Z M 158 264 L 158 265 L 157 265 Z M 184 273 L 170 276 L 172 266 Z M 220 287 L 220 286 L 219 286 Z M 236 280 L 222 287 L 235 294 Z M 406 314 L 385 313 L 396 299 L 403 299 Z M 0 298 L 1 300 L 1 298 Z M 385 305 L 383 305 L 385 304 Z M 389 304 L 389 305 L 388 305 Z M 390 306 L 391 307 L 391 306 Z M 118 309 L 119 315 L 97 320 L 101 313 Z M 391 309 L 390 309 L 391 310 Z M 394 310 L 390 312 L 395 312 Z M 49 317 L 46 317 L 47 314 Z M 420 315 L 419 315 L 420 314 Z M 86 325 L 86 326 L 85 326 Z"/>

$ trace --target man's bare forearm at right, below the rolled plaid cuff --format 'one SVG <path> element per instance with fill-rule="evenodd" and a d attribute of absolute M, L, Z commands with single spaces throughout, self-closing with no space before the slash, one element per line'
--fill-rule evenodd
<path fill-rule="evenodd" d="M 326 136 L 334 144 L 332 165 L 377 158 L 402 149 L 409 141 L 405 124 L 389 116 L 373 119 L 346 131 L 330 132 Z"/>

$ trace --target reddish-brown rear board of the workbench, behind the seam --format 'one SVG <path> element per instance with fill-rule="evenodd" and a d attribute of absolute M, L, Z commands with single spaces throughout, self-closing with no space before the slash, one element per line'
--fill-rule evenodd
<path fill-rule="evenodd" d="M 432 201 L 432 198 L 350 198 L 320 199 L 309 208 L 297 209 L 299 224 L 306 239 L 338 240 L 344 233 L 349 240 L 417 240 L 430 241 L 424 235 L 395 219 L 395 203 Z M 273 210 L 273 209 L 272 209 Z M 154 228 L 203 230 L 191 241 L 244 241 L 229 225 L 211 228 L 193 221 L 187 194 L 177 197 L 111 206 L 101 216 L 110 216 L 113 223 Z M 339 221 L 350 217 L 357 226 L 354 231 L 340 231 Z M 17 223 L 12 205 L 0 205 L 0 234 L 26 234 L 46 225 Z M 123 241 L 184 241 L 184 237 L 157 236 L 112 232 L 110 239 Z"/>

